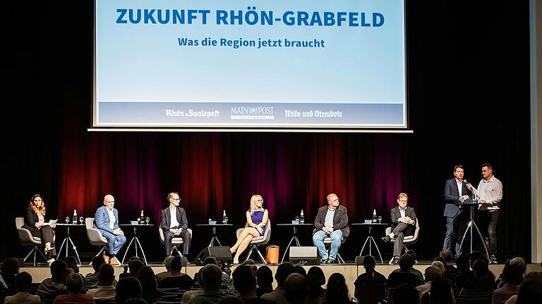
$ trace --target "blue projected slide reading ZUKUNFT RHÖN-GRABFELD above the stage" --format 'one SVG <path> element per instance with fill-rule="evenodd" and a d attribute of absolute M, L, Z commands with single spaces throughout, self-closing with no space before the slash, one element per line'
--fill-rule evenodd
<path fill-rule="evenodd" d="M 95 0 L 93 127 L 406 128 L 404 0 Z"/>

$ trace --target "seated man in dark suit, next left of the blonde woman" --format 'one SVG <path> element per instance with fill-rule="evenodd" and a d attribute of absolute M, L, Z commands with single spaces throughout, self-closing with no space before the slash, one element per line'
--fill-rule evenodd
<path fill-rule="evenodd" d="M 164 246 L 166 247 L 166 256 L 171 255 L 171 240 L 174 237 L 183 238 L 183 255 L 188 256 L 190 249 L 191 235 L 188 228 L 188 220 L 186 220 L 186 212 L 179 207 L 179 194 L 171 192 L 167 195 L 169 206 L 160 212 L 160 227 L 164 232 Z"/>

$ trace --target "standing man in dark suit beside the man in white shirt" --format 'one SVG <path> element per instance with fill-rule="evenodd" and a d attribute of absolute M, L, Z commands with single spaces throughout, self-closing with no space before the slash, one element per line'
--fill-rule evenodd
<path fill-rule="evenodd" d="M 459 210 L 457 205 L 469 199 L 466 184 L 463 181 L 463 165 L 454 166 L 454 178 L 448 179 L 444 186 L 444 198 L 446 206 L 444 208 L 444 217 L 446 217 L 446 236 L 442 250 L 453 251 L 455 243 L 455 256 L 458 257 L 461 251 L 461 235 L 464 232 L 464 213 Z M 459 230 L 459 231 L 458 231 Z"/>

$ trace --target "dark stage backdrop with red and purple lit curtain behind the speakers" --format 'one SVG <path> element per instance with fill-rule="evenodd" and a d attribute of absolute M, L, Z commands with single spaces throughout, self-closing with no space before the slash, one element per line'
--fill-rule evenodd
<path fill-rule="evenodd" d="M 35 193 L 44 196 L 47 218 L 63 219 L 73 209 L 93 216 L 103 196 L 113 194 L 121 222 L 145 210 L 157 223 L 167 193 L 179 191 L 194 230 L 193 256 L 210 240 L 195 224 L 219 220 L 226 210 L 242 227 L 253 194 L 263 196 L 276 224 L 290 222 L 301 209 L 312 222 L 325 196 L 335 192 L 354 223 L 370 218 L 373 209 L 388 222 L 403 191 L 421 223 L 414 248 L 432 259 L 445 233 L 445 179 L 462 163 L 466 179 L 477 184 L 480 165 L 488 161 L 504 184 L 498 258 L 530 259 L 528 3 L 407 2 L 414 134 L 87 132 L 92 1 L 56 1 L 32 11 L 34 27 L 14 43 L 17 69 L 8 87 L 16 94 L 6 101 L 16 103 L 23 121 L 4 113 L 13 124 L 5 131 L 6 246 L 0 258 L 25 255 L 13 217 L 23 215 Z M 157 228 L 138 233 L 147 258 L 162 260 Z M 219 233 L 224 245 L 234 241 L 233 229 Z M 97 248 L 83 229 L 74 234 L 89 260 Z M 311 243 L 310 229 L 301 236 Z M 290 237 L 289 229 L 273 227 L 270 243 L 284 248 Z M 366 230 L 353 227 L 340 253 L 354 260 L 365 238 Z M 389 258 L 391 246 L 377 241 Z"/>

